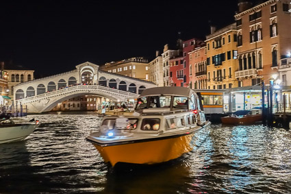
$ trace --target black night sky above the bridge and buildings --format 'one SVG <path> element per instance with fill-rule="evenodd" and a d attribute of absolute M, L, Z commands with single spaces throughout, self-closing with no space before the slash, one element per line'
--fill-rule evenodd
<path fill-rule="evenodd" d="M 1 1 L 0 60 L 34 69 L 36 77 L 131 57 L 152 60 L 164 45 L 205 38 L 210 23 L 234 22 L 237 0 Z"/>

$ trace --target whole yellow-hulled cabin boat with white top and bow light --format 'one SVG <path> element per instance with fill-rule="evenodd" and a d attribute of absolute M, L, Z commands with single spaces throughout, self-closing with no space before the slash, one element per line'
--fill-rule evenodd
<path fill-rule="evenodd" d="M 210 122 L 200 108 L 199 97 L 183 87 L 149 88 L 137 99 L 129 116 L 105 116 L 98 132 L 87 140 L 103 160 L 153 165 L 174 160 L 194 149 Z"/>

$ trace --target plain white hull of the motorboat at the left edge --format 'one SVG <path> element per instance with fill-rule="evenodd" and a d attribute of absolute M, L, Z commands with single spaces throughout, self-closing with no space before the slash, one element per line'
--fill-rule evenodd
<path fill-rule="evenodd" d="M 16 124 L 13 126 L 0 128 L 0 143 L 11 143 L 23 141 L 29 134 L 34 132 L 38 125 L 36 124 Z"/>

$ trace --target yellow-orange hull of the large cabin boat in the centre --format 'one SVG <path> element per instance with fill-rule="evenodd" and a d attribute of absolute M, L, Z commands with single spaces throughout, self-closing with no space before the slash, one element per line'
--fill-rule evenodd
<path fill-rule="evenodd" d="M 152 139 L 138 143 L 101 146 L 94 144 L 105 162 L 110 162 L 112 167 L 117 162 L 153 165 L 179 158 L 192 151 L 191 143 L 194 134 L 176 136 L 173 138 Z"/>

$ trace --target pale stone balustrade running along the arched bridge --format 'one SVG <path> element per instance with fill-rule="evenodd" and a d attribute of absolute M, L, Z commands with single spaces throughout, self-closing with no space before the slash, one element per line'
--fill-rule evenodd
<path fill-rule="evenodd" d="M 58 94 L 65 94 L 67 92 L 71 92 L 71 91 L 74 91 L 74 90 L 80 90 L 80 89 L 106 90 L 106 91 L 110 91 L 110 92 L 113 92 L 113 93 L 118 93 L 118 94 L 121 94 L 121 95 L 130 96 L 130 97 L 136 97 L 138 95 L 136 93 L 130 93 L 130 92 L 127 92 L 127 91 L 118 90 L 118 89 L 115 89 L 115 88 L 109 88 L 109 87 L 100 86 L 100 85 L 77 85 L 77 86 L 71 86 L 71 87 L 68 87 L 68 88 L 63 88 L 63 89 L 60 89 L 60 90 L 51 91 L 49 93 L 43 93 L 41 95 L 35 95 L 35 96 L 32 96 L 32 97 L 26 97 L 24 99 L 18 99 L 18 101 L 23 101 L 23 100 L 29 101 L 29 100 L 39 99 L 39 98 L 42 98 L 42 97 L 52 97 L 52 96 L 55 96 L 55 95 L 58 95 Z"/>

